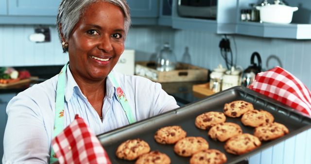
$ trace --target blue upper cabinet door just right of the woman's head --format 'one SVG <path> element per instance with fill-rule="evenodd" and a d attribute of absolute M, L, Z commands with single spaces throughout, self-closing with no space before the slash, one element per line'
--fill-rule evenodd
<path fill-rule="evenodd" d="M 127 0 L 131 17 L 157 17 L 159 0 Z"/>

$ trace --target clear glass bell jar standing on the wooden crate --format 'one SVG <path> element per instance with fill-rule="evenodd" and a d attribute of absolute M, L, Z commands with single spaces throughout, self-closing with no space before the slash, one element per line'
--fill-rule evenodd
<path fill-rule="evenodd" d="M 156 70 L 158 71 L 170 71 L 176 67 L 176 56 L 170 49 L 170 44 L 166 42 L 163 49 L 160 50 L 159 55 L 156 58 Z"/>

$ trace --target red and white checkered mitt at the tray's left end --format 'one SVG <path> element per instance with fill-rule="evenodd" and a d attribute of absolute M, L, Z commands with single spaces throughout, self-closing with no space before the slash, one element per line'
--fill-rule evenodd
<path fill-rule="evenodd" d="M 52 140 L 60 164 L 111 164 L 101 143 L 78 115 Z"/>

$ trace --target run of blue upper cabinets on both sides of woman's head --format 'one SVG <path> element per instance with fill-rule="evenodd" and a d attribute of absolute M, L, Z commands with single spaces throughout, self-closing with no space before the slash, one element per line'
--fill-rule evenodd
<path fill-rule="evenodd" d="M 0 0 L 0 24 L 55 24 L 61 0 Z M 127 0 L 133 25 L 155 25 L 159 0 Z"/>

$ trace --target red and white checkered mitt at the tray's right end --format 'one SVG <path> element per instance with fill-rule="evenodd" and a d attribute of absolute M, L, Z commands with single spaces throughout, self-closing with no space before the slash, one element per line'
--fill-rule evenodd
<path fill-rule="evenodd" d="M 311 116 L 311 92 L 279 66 L 258 73 L 249 88 Z"/>

